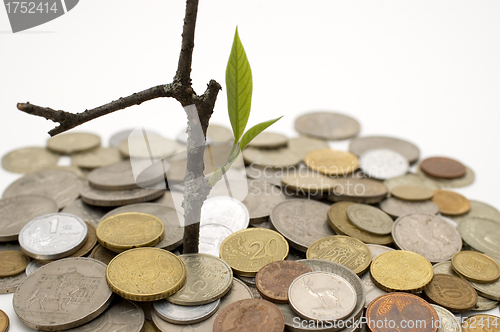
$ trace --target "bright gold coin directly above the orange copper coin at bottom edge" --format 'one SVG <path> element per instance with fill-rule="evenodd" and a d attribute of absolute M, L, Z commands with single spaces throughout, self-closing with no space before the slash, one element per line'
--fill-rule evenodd
<path fill-rule="evenodd" d="M 434 276 L 431 263 L 406 250 L 393 250 L 376 257 L 370 267 L 373 282 L 386 292 L 418 293 Z"/>

